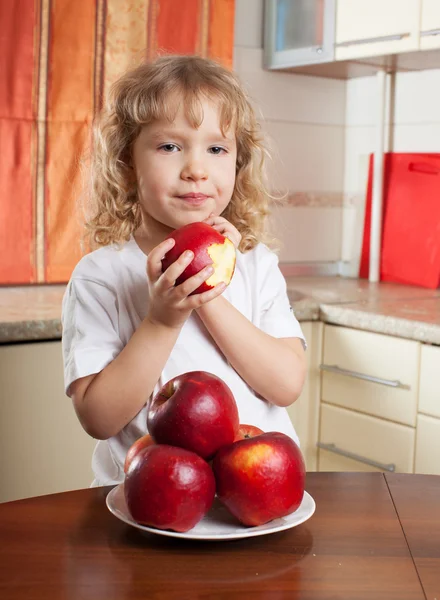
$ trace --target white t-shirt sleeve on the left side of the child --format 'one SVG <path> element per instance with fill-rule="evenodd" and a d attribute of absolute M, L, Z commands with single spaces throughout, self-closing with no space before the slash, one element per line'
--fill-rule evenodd
<path fill-rule="evenodd" d="M 123 348 L 118 334 L 115 292 L 88 279 L 74 278 L 67 285 L 61 311 L 64 389 L 104 369 Z"/>

